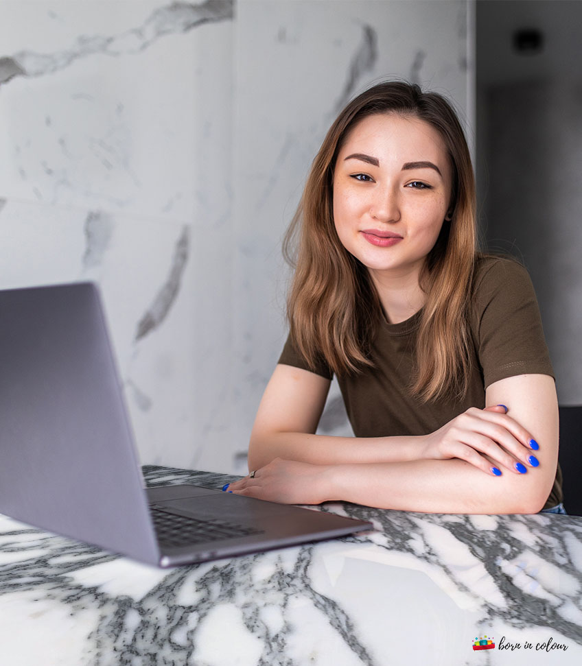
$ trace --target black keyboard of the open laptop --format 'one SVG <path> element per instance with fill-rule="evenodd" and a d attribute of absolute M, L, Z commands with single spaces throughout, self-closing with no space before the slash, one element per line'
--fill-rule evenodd
<path fill-rule="evenodd" d="M 156 506 L 150 506 L 150 513 L 161 546 L 187 546 L 263 532 L 248 525 L 237 525 L 222 520 L 201 521 L 179 516 Z"/>

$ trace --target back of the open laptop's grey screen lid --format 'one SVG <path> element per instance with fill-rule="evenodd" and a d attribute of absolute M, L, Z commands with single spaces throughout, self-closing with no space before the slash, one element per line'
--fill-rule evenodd
<path fill-rule="evenodd" d="M 157 564 L 117 377 L 95 285 L 0 292 L 0 512 Z"/>

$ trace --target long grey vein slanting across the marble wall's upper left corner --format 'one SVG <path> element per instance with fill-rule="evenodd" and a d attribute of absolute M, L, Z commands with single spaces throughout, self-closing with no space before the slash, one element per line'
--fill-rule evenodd
<path fill-rule="evenodd" d="M 167 34 L 188 32 L 204 23 L 233 18 L 233 0 L 206 0 L 200 4 L 173 2 L 154 10 L 136 28 L 115 36 L 82 35 L 68 49 L 56 53 L 19 51 L 0 58 L 0 86 L 19 77 L 52 74 L 75 60 L 102 53 L 105 56 L 139 53 Z"/>

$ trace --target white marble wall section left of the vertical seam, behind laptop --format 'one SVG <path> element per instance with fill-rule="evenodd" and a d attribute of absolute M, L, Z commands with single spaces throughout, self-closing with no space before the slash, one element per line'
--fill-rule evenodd
<path fill-rule="evenodd" d="M 195 466 L 228 423 L 232 24 L 0 3 L 0 287 L 100 284 L 143 462 Z"/>

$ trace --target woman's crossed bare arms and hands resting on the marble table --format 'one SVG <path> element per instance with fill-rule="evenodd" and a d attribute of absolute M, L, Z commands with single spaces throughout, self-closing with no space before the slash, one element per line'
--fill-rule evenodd
<path fill-rule="evenodd" d="M 551 377 L 497 381 L 487 388 L 485 409 L 469 409 L 424 436 L 316 435 L 328 391 L 329 381 L 317 374 L 277 366 L 251 434 L 248 460 L 255 477 L 229 490 L 282 503 L 343 500 L 437 513 L 536 513 L 543 508 L 558 455 Z M 499 404 L 507 405 L 507 414 Z M 520 473 L 516 463 L 526 472 Z"/>

